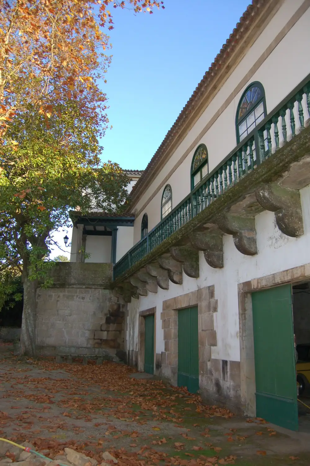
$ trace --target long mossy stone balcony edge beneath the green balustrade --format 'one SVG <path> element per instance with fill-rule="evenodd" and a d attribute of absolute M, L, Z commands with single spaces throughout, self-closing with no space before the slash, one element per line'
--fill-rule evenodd
<path fill-rule="evenodd" d="M 145 267 L 149 262 L 157 260 L 158 257 L 166 253 L 170 247 L 178 245 L 180 240 L 184 240 L 186 237 L 190 236 L 198 227 L 206 223 L 212 223 L 216 215 L 220 212 L 228 211 L 230 207 L 236 204 L 244 195 L 254 192 L 259 185 L 278 180 L 281 175 L 289 169 L 291 164 L 300 161 L 307 155 L 310 155 L 310 126 L 272 154 L 267 160 L 262 162 L 261 165 L 255 168 L 255 170 L 239 179 L 235 185 L 227 189 L 224 194 L 215 199 L 206 209 L 183 225 L 177 232 L 172 233 L 169 238 L 166 238 L 149 254 L 145 255 L 130 269 L 124 272 L 124 274 L 117 277 L 112 283 L 112 286 L 117 286 L 132 274 L 135 274 L 139 269 Z"/>

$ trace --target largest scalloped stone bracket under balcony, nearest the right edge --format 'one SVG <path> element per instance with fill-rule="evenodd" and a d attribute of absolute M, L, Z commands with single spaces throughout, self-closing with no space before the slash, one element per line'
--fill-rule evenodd
<path fill-rule="evenodd" d="M 259 186 L 255 196 L 265 210 L 275 212 L 276 224 L 282 233 L 293 238 L 303 235 L 303 213 L 298 189 L 268 183 Z"/>

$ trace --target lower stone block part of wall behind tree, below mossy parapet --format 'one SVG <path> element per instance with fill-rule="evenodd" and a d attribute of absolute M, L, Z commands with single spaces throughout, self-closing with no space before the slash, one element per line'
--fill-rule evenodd
<path fill-rule="evenodd" d="M 123 349 L 124 313 L 113 300 L 106 289 L 39 289 L 37 345 Z"/>

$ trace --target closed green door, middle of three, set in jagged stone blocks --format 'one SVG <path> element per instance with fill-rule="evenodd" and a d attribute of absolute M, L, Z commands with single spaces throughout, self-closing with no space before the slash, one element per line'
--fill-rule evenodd
<path fill-rule="evenodd" d="M 178 386 L 199 390 L 198 308 L 178 312 Z"/>

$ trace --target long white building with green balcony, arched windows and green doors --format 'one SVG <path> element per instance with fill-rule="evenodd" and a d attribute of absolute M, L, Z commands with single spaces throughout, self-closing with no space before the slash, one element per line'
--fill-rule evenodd
<path fill-rule="evenodd" d="M 308 0 L 253 1 L 134 185 L 111 256 L 129 363 L 293 430 L 296 370 L 310 382 L 294 356 L 294 335 L 310 348 L 309 24 Z"/>

